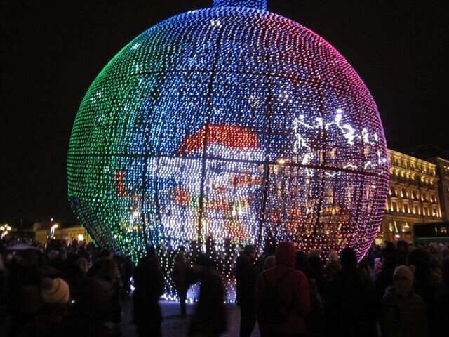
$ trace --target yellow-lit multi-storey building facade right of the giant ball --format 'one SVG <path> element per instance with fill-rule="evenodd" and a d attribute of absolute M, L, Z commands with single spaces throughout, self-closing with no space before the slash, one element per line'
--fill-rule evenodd
<path fill-rule="evenodd" d="M 415 223 L 443 220 L 438 166 L 394 150 L 388 150 L 388 155 L 390 185 L 385 214 L 376 241 L 382 243 L 384 240 L 405 239 L 411 242 Z M 445 184 L 447 183 L 448 180 Z"/>

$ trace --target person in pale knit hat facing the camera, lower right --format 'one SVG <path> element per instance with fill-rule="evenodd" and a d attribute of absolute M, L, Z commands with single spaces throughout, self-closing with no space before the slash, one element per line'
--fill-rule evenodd
<path fill-rule="evenodd" d="M 426 307 L 421 296 L 413 291 L 412 270 L 406 265 L 396 267 L 393 280 L 394 288 L 382 299 L 382 336 L 429 336 Z"/>

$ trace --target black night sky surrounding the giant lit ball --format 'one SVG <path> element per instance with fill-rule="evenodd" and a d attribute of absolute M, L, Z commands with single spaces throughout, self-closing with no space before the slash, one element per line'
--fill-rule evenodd
<path fill-rule="evenodd" d="M 389 148 L 449 148 L 445 2 L 269 0 L 269 11 L 310 28 L 347 58 L 375 98 Z M 1 1 L 0 223 L 76 221 L 67 201 L 67 148 L 88 86 L 145 29 L 210 4 Z"/>

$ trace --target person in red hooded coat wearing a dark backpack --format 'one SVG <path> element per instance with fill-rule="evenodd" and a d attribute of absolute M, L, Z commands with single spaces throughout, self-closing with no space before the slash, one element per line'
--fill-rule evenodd
<path fill-rule="evenodd" d="M 305 317 L 310 310 L 309 284 L 306 275 L 295 270 L 295 246 L 280 242 L 275 257 L 276 266 L 259 275 L 255 289 L 260 335 L 305 336 Z"/>

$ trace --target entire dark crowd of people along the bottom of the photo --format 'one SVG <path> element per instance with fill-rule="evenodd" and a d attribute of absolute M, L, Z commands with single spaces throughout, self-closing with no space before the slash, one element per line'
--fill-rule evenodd
<path fill-rule="evenodd" d="M 150 246 L 133 265 L 130 256 L 86 242 L 34 242 L 14 251 L 0 242 L 1 315 L 11 336 L 120 336 L 124 297 L 132 297 L 138 336 L 161 336 L 159 298 L 166 291 L 161 260 Z M 179 247 L 170 279 L 187 316 L 192 284 L 200 290 L 189 336 L 227 331 L 225 282 L 213 251 Z M 437 336 L 449 331 L 447 244 L 373 244 L 358 262 L 354 249 L 328 258 L 290 242 L 242 247 L 233 263 L 239 336 Z"/>

